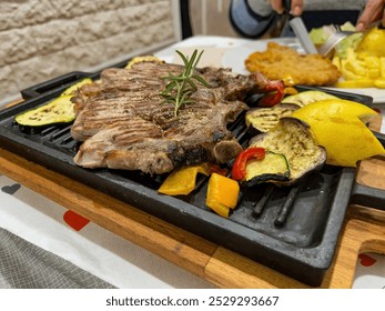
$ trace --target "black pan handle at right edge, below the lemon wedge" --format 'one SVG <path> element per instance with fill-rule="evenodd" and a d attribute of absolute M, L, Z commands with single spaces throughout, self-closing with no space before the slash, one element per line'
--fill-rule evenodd
<path fill-rule="evenodd" d="M 375 131 L 373 133 L 385 146 L 385 134 Z M 349 203 L 385 210 L 385 190 L 355 183 L 352 189 Z"/>

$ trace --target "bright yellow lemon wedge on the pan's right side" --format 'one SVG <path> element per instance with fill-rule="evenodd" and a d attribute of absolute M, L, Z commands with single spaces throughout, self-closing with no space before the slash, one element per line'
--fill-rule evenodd
<path fill-rule="evenodd" d="M 326 149 L 326 163 L 341 167 L 356 167 L 359 160 L 385 153 L 365 126 L 375 116 L 373 109 L 348 100 L 321 100 L 292 113 L 310 124 L 318 144 Z"/>

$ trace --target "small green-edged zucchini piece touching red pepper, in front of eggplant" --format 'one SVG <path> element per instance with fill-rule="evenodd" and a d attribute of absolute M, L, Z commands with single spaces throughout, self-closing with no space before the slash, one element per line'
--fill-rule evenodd
<path fill-rule="evenodd" d="M 286 182 L 290 179 L 290 165 L 282 153 L 266 150 L 263 160 L 250 160 L 246 164 L 246 177 L 242 183 L 252 187 L 262 182 Z"/>

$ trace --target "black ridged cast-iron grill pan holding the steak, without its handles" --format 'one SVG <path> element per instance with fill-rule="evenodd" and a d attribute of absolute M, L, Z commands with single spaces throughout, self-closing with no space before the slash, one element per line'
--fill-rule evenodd
<path fill-rule="evenodd" d="M 1 111 L 1 147 L 305 284 L 322 283 L 351 200 L 354 168 L 325 165 L 291 188 L 269 184 L 242 188 L 239 207 L 224 219 L 204 204 L 205 177 L 199 177 L 199 185 L 189 195 L 163 195 L 158 193 L 158 188 L 164 175 L 77 167 L 72 158 L 79 143 L 71 138 L 69 124 L 52 126 L 36 133 L 20 131 L 13 122 L 14 116 L 50 101 L 62 90 L 55 89 Z M 333 93 L 372 103 L 367 97 Z M 230 128 L 235 136 L 244 133 L 241 123 Z"/>

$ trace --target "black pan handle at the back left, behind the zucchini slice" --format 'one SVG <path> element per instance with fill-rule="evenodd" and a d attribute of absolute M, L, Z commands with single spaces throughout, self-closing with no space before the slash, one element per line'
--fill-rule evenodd
<path fill-rule="evenodd" d="M 72 72 L 59 76 L 57 78 L 53 78 L 51 80 L 44 81 L 42 83 L 36 84 L 28 89 L 21 90 L 20 93 L 24 100 L 28 100 L 47 92 L 58 90 L 59 88 L 69 87 L 70 84 L 73 84 L 78 80 L 89 78 L 91 76 L 92 73 L 89 73 L 89 72 L 72 71 Z"/>

